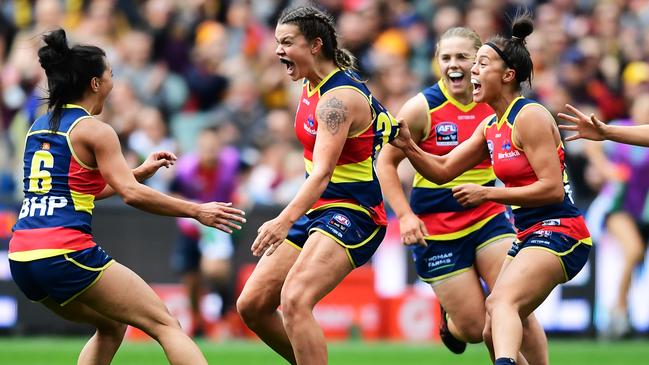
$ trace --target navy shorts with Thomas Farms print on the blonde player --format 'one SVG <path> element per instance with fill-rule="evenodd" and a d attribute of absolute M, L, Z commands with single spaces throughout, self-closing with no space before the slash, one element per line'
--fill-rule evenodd
<path fill-rule="evenodd" d="M 503 238 L 511 238 L 513 242 L 515 237 L 514 228 L 503 212 L 461 238 L 426 240 L 427 247 L 413 245 L 417 275 L 425 282 L 435 283 L 461 274 L 473 266 L 478 251 Z"/>

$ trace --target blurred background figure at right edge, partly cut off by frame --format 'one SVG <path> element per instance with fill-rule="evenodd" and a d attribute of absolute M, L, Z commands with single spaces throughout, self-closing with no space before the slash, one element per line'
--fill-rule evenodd
<path fill-rule="evenodd" d="M 649 124 L 649 94 L 638 95 L 632 105 L 629 119 L 614 120 L 614 125 Z M 597 198 L 593 204 L 599 210 L 603 228 L 619 245 L 623 266 L 615 301 L 609 312 L 604 334 L 619 339 L 631 332 L 628 314 L 628 295 L 634 270 L 644 260 L 649 240 L 649 149 L 617 142 L 588 142 L 588 160 L 596 178 L 601 178 Z M 595 212 L 589 212 L 591 215 Z"/>

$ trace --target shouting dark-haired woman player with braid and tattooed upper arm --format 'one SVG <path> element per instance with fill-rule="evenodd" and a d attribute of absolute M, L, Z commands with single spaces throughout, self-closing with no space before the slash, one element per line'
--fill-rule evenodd
<path fill-rule="evenodd" d="M 302 83 L 295 132 L 307 178 L 279 216 L 259 228 L 252 251 L 263 257 L 237 308 L 289 362 L 326 364 L 313 307 L 367 262 L 385 235 L 374 161 L 397 129 L 358 80 L 353 57 L 338 48 L 330 16 L 312 7 L 288 9 L 275 38 L 287 74 Z"/>

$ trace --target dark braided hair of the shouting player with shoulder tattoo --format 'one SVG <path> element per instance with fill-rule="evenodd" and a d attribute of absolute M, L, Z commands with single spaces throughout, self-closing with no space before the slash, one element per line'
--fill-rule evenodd
<path fill-rule="evenodd" d="M 286 9 L 279 24 L 294 24 L 308 41 L 322 39 L 322 54 L 341 69 L 355 69 L 356 58 L 344 48 L 338 48 L 338 34 L 333 17 L 310 6 Z"/>

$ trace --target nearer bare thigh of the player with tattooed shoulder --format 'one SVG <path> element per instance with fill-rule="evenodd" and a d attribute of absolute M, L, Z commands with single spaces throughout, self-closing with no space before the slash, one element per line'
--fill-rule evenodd
<path fill-rule="evenodd" d="M 343 246 L 321 232 L 314 232 L 289 271 L 282 296 L 291 293 L 315 305 L 353 268 Z"/>

